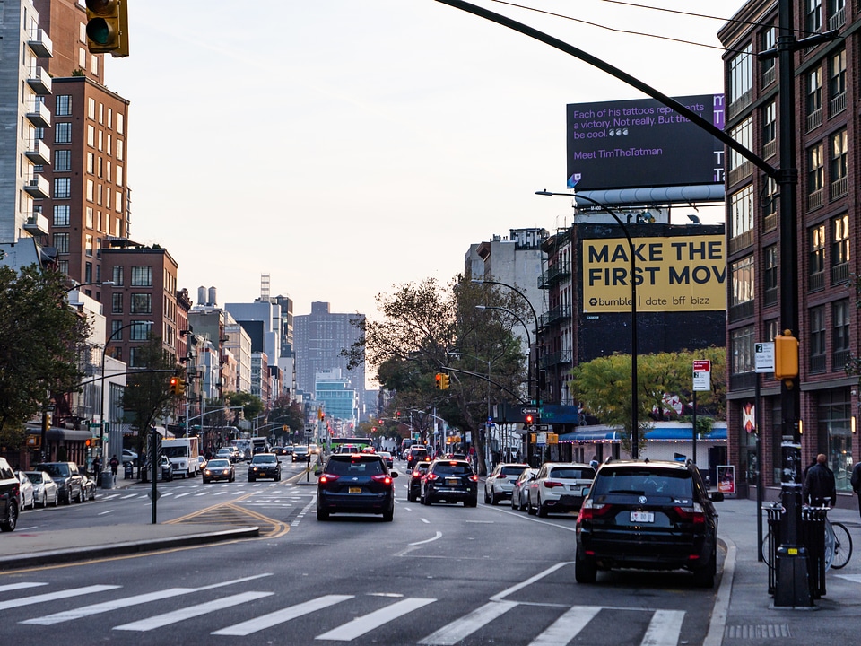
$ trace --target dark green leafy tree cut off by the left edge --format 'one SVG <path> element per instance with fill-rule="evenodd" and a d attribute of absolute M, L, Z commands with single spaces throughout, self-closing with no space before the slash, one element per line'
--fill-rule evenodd
<path fill-rule="evenodd" d="M 0 441 L 4 444 L 20 444 L 23 423 L 48 406 L 52 392 L 80 388 L 83 374 L 76 359 L 89 325 L 65 304 L 67 280 L 64 274 L 35 265 L 23 267 L 20 273 L 0 266 Z"/>

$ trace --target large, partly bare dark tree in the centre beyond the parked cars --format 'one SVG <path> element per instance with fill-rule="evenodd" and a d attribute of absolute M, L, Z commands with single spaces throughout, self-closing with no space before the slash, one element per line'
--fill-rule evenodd
<path fill-rule="evenodd" d="M 431 429 L 431 407 L 450 425 L 471 431 L 483 467 L 479 429 L 487 417 L 488 383 L 491 402 L 519 401 L 526 380 L 522 348 L 511 331 L 516 324 L 475 306 L 504 307 L 519 315 L 524 305 L 518 300 L 517 294 L 501 294 L 462 276 L 448 285 L 427 278 L 396 286 L 394 293 L 377 297 L 383 319 L 353 322 L 360 336 L 345 354 L 352 367 L 362 361 L 377 366 L 381 386 L 394 393 L 391 407 L 418 412 L 413 425 L 423 441 Z M 448 372 L 448 390 L 435 388 L 438 372 Z"/>

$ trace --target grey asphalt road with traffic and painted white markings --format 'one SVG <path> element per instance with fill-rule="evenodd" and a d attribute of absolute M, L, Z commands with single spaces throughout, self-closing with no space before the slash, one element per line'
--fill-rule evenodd
<path fill-rule="evenodd" d="M 243 471 L 231 484 L 204 486 L 199 478 L 160 483 L 164 519 L 229 508 L 272 519 L 283 530 L 230 544 L 0 575 L 3 642 L 703 641 L 715 592 L 694 588 L 689 575 L 613 572 L 596 586 L 579 586 L 573 581 L 573 516 L 537 519 L 482 502 L 476 509 L 424 507 L 406 501 L 405 469 L 401 463 L 396 468 L 402 476 L 391 523 L 338 515 L 319 523 L 314 487 L 249 484 Z M 108 519 L 141 522 L 150 510 L 141 490 L 48 510 L 45 518 L 89 521 L 94 531 Z M 24 514 L 21 527 L 41 513 Z"/>

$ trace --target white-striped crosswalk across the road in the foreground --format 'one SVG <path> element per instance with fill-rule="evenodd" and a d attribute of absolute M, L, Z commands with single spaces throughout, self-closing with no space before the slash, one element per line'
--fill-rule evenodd
<path fill-rule="evenodd" d="M 389 626 L 403 626 L 400 620 L 422 608 L 445 603 L 444 599 L 397 594 L 323 594 L 314 598 L 298 600 L 297 603 L 278 603 L 279 593 L 271 572 L 264 572 L 242 579 L 220 581 L 198 588 L 170 588 L 154 591 L 128 592 L 119 585 L 88 585 L 80 588 L 48 589 L 46 581 L 16 581 L 0 585 L 0 611 L 17 608 L 15 616 L 22 618 L 18 630 L 38 630 L 39 626 L 62 626 L 75 621 L 87 620 L 101 615 L 100 626 L 109 626 L 111 631 L 124 633 L 154 633 L 168 631 L 171 637 L 182 634 L 182 626 L 196 617 L 206 617 L 213 635 L 248 638 L 248 643 L 267 639 L 266 631 L 277 629 L 301 617 L 313 619 L 310 625 L 316 630 L 302 635 L 310 641 L 353 642 L 368 638 L 378 642 L 378 631 Z M 241 586 L 245 589 L 238 590 Z M 80 603 L 77 607 L 74 603 Z M 257 603 L 264 602 L 264 603 Z M 685 613 L 681 610 L 604 608 L 601 606 L 547 604 L 544 611 L 549 621 L 535 623 L 524 621 L 534 617 L 535 602 L 519 602 L 509 599 L 494 599 L 478 607 L 466 609 L 465 614 L 451 618 L 448 623 L 422 637 L 410 631 L 409 641 L 417 646 L 451 646 L 467 643 L 471 637 L 479 637 L 487 626 L 500 621 L 506 615 L 524 613 L 512 617 L 524 630 L 532 630 L 526 639 L 519 637 L 514 642 L 531 646 L 566 646 L 577 642 L 578 634 L 595 622 L 604 609 L 626 610 L 641 616 L 640 646 L 675 646 L 679 643 Z M 56 612 L 47 608 L 64 607 Z M 275 609 L 272 609 L 275 607 Z M 234 614 L 231 608 L 239 608 L 244 615 Z M 257 608 L 261 608 L 257 611 Z M 257 615 L 248 617 L 250 611 Z M 226 612 L 227 611 L 227 612 Z M 312 616 L 313 615 L 313 616 Z M 423 622 L 431 616 L 422 614 Z M 233 619 L 235 623 L 230 623 Z M 227 624 L 227 625 L 225 625 Z M 199 625 L 199 624 L 198 624 Z M 309 623 L 302 624 L 305 629 Z M 413 624 L 411 624 L 413 625 Z M 187 630 L 192 631 L 189 625 Z M 271 636 L 270 633 L 268 636 Z M 531 640 L 531 641 L 530 641 Z M 631 642 L 634 643 L 634 642 Z"/>

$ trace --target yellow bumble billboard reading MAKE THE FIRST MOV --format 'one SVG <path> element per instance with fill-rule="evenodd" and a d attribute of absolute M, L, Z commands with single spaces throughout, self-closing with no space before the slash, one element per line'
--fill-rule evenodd
<path fill-rule="evenodd" d="M 722 235 L 633 238 L 637 311 L 726 310 Z M 631 311 L 631 249 L 624 238 L 583 240 L 583 312 Z"/>

